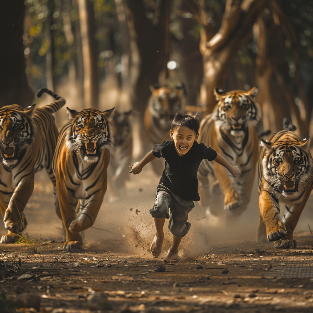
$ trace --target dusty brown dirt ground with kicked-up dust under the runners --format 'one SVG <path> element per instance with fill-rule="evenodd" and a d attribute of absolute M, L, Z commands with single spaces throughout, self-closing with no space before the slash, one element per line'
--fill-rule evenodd
<path fill-rule="evenodd" d="M 3 303 L 0 295 L 0 312 L 11 300 L 36 307 L 20 308 L 25 312 L 313 312 L 313 199 L 296 228 L 298 247 L 288 250 L 254 241 L 256 192 L 232 227 L 196 205 L 180 262 L 167 264 L 168 231 L 160 257 L 148 252 L 158 180 L 147 166 L 118 201 L 110 203 L 108 191 L 94 228 L 84 233 L 84 249 L 63 252 L 52 184 L 39 173 L 25 208 L 26 231 L 36 241 L 0 245 L 0 294 L 7 296 Z"/>

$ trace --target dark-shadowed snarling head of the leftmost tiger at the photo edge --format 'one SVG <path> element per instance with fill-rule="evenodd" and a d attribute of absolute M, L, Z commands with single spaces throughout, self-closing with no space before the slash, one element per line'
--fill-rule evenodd
<path fill-rule="evenodd" d="M 18 162 L 21 151 L 33 141 L 33 109 L 35 104 L 23 109 L 17 104 L 0 109 L 0 156 L 4 166 Z"/>

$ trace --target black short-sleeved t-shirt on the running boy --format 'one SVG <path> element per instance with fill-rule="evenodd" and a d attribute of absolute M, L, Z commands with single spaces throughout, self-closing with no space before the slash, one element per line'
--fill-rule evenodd
<path fill-rule="evenodd" d="M 174 141 L 164 141 L 161 145 L 154 145 L 152 154 L 165 158 L 165 170 L 160 184 L 165 185 L 183 200 L 199 201 L 197 172 L 203 159 L 213 161 L 217 153 L 204 143 L 193 142 L 190 150 L 179 156 Z"/>

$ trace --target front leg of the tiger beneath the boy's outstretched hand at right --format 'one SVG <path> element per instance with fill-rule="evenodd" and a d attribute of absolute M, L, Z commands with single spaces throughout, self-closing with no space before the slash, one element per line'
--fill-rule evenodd
<path fill-rule="evenodd" d="M 214 173 L 224 194 L 224 209 L 231 211 L 240 207 L 242 201 L 233 176 L 218 163 L 214 164 Z"/>

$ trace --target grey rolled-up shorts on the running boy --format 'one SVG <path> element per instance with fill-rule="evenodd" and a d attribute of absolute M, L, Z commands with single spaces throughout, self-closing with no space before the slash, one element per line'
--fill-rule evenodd
<path fill-rule="evenodd" d="M 188 213 L 194 207 L 193 201 L 186 201 L 176 196 L 167 187 L 159 184 L 156 187 L 156 202 L 150 210 L 153 218 L 167 218 L 168 229 L 176 237 L 184 237 L 191 224 L 187 222 Z M 170 209 L 170 213 L 168 212 Z"/>

